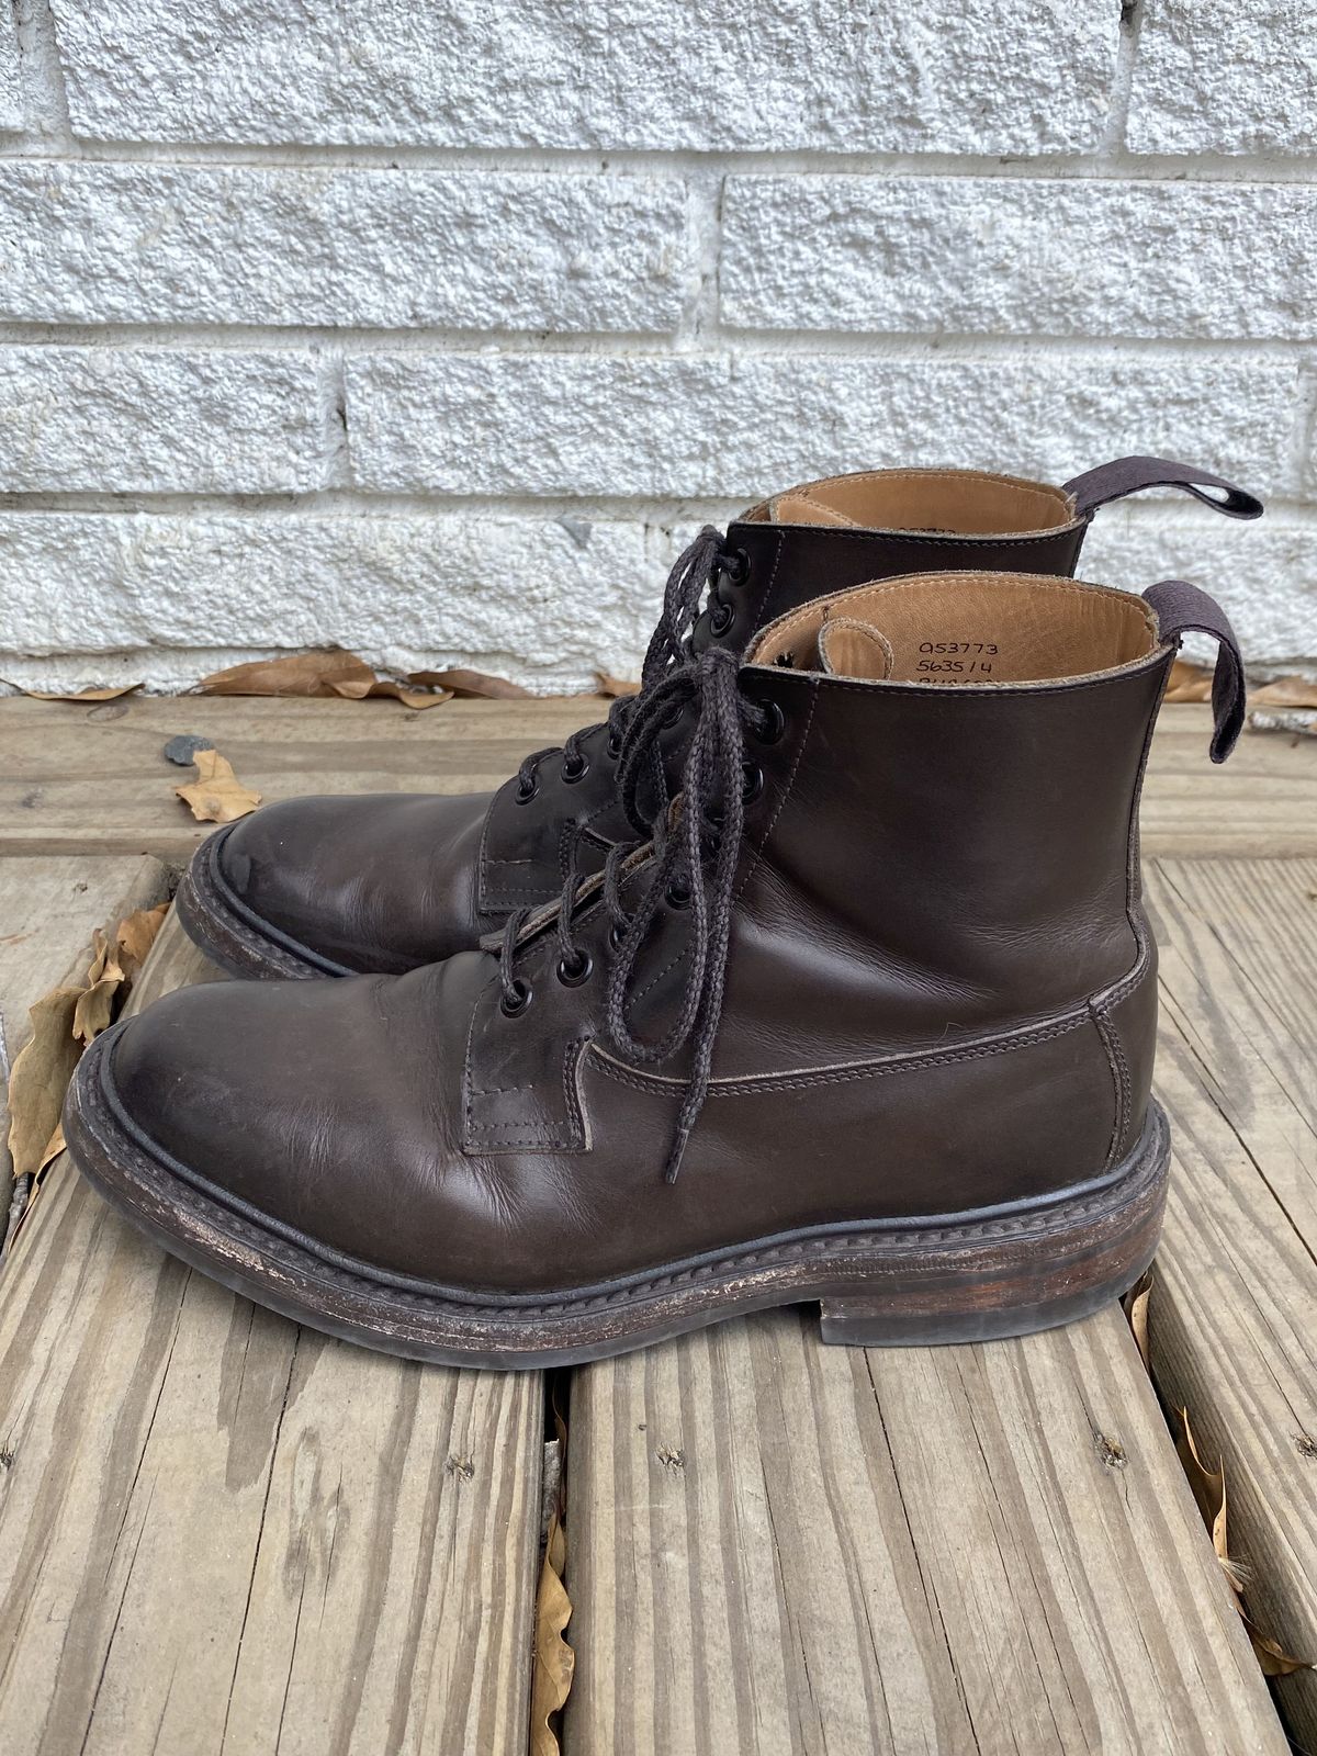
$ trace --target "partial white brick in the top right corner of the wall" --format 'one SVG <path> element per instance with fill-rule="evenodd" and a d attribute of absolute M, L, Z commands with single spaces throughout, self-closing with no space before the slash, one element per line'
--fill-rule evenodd
<path fill-rule="evenodd" d="M 1136 153 L 1312 153 L 1312 0 L 1147 0 L 1127 140 Z"/>

